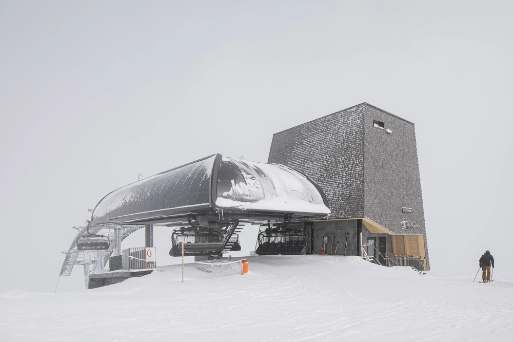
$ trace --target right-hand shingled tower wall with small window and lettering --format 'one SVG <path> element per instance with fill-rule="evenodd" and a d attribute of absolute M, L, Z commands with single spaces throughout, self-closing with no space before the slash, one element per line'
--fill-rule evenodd
<path fill-rule="evenodd" d="M 369 104 L 364 116 L 365 216 L 396 234 L 423 234 L 427 256 L 415 125 Z M 374 127 L 374 120 L 385 129 Z M 403 207 L 412 213 L 402 213 Z M 402 221 L 415 222 L 416 229 L 403 228 Z"/>

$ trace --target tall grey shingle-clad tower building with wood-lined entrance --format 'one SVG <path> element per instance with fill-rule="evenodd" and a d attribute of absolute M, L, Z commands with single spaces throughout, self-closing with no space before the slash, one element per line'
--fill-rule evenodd
<path fill-rule="evenodd" d="M 268 163 L 299 170 L 328 199 L 328 219 L 298 223 L 308 232 L 308 253 L 339 242 L 337 255 L 361 255 L 366 245 L 378 260 L 411 255 L 429 270 L 412 122 L 361 103 L 274 134 Z"/>

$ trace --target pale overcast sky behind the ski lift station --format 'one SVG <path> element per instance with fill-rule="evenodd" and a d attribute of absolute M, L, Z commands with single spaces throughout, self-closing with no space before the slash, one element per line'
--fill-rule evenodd
<path fill-rule="evenodd" d="M 138 174 L 266 162 L 273 133 L 362 102 L 416 124 L 432 271 L 513 270 L 512 10 L 0 0 L 0 290 L 53 292 L 71 226 Z"/>

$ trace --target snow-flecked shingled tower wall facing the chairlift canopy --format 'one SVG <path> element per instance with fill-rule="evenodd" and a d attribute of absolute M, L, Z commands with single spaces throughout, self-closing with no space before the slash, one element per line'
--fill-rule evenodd
<path fill-rule="evenodd" d="M 360 104 L 272 137 L 268 163 L 311 177 L 324 190 L 332 219 L 363 217 L 364 109 Z"/>

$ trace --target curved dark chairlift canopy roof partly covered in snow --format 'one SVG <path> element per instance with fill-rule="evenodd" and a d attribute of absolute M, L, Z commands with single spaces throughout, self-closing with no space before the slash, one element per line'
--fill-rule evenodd
<path fill-rule="evenodd" d="M 320 217 L 330 210 L 321 188 L 296 170 L 217 154 L 114 190 L 96 205 L 91 222 L 149 223 L 217 213 L 266 219 Z"/>

